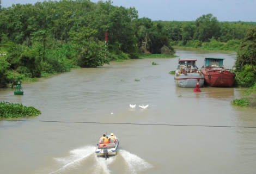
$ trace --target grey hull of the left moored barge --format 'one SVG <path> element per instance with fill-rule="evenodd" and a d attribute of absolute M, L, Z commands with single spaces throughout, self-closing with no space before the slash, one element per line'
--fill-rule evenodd
<path fill-rule="evenodd" d="M 204 76 L 199 73 L 178 74 L 179 71 L 176 71 L 175 83 L 181 88 L 196 88 L 198 79 L 200 88 L 204 85 Z"/>

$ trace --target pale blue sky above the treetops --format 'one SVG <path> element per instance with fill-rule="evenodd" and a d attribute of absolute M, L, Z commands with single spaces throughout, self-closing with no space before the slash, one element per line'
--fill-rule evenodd
<path fill-rule="evenodd" d="M 98 0 L 90 0 L 98 2 Z M 105 0 L 103 0 L 105 2 Z M 2 0 L 2 7 L 43 0 Z M 218 21 L 256 22 L 256 0 L 112 0 L 113 5 L 135 7 L 139 18 L 153 21 L 195 21 L 211 13 Z"/>

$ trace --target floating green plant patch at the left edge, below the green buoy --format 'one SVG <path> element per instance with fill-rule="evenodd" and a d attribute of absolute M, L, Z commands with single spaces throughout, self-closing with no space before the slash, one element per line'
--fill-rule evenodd
<path fill-rule="evenodd" d="M 41 114 L 41 111 L 34 107 L 26 107 L 21 103 L 0 102 L 0 117 L 1 118 L 17 118 L 25 116 L 36 116 Z"/>

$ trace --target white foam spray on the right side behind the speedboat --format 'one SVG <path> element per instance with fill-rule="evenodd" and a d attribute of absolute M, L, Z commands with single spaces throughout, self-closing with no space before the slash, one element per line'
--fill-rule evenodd
<path fill-rule="evenodd" d="M 149 164 L 144 159 L 139 158 L 135 154 L 132 154 L 125 150 L 119 150 L 119 154 L 121 154 L 121 156 L 125 159 L 125 162 L 129 167 L 130 173 L 141 172 L 143 170 L 151 169 L 153 167 L 153 165 Z"/>

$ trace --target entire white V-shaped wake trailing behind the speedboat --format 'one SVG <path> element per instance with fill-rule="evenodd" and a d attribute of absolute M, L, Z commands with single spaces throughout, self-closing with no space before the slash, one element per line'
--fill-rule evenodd
<path fill-rule="evenodd" d="M 123 157 L 124 160 L 120 159 Z M 109 165 L 112 163 L 123 163 L 124 166 L 119 170 L 127 173 L 138 173 L 153 167 L 142 158 L 131 154 L 125 150 L 119 150 L 116 156 L 111 156 L 107 160 L 103 157 L 97 157 L 94 146 L 85 146 L 70 151 L 70 155 L 63 158 L 53 158 L 53 166 L 37 170 L 35 173 L 111 173 Z M 118 158 L 118 160 L 116 160 Z M 119 164 L 119 165 L 118 165 Z M 122 164 L 122 165 L 123 165 Z M 114 165 L 113 165 L 114 166 Z M 112 166 L 112 167 L 113 167 Z M 78 173 L 80 173 L 78 172 Z"/>

